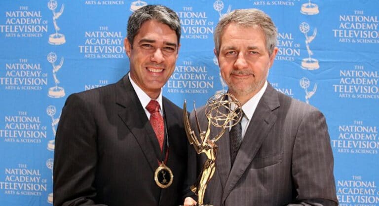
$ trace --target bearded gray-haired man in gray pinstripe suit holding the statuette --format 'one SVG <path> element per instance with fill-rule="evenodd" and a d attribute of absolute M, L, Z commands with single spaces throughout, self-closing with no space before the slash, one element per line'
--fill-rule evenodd
<path fill-rule="evenodd" d="M 277 29 L 270 17 L 258 9 L 238 9 L 220 20 L 214 35 L 222 77 L 242 104 L 243 117 L 217 141 L 217 168 L 204 203 L 337 206 L 325 117 L 266 81 L 278 51 Z M 204 107 L 197 114 L 206 130 Z M 190 122 L 195 128 L 193 112 Z M 218 132 L 212 126 L 210 137 Z M 195 160 L 193 182 L 204 160 L 204 156 Z M 186 206 L 195 203 L 190 197 L 185 200 Z"/>

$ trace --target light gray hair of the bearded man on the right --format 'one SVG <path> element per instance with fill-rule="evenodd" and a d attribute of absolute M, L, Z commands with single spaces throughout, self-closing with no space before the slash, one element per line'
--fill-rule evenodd
<path fill-rule="evenodd" d="M 236 9 L 221 18 L 214 34 L 217 56 L 220 54 L 221 37 L 225 27 L 231 23 L 243 27 L 259 26 L 265 34 L 266 49 L 271 56 L 276 46 L 278 32 L 271 18 L 265 12 L 255 8 Z"/>

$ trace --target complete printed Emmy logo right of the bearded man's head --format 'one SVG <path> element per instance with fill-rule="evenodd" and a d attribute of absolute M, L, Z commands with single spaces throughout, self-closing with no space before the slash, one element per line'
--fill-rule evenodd
<path fill-rule="evenodd" d="M 311 58 L 313 55 L 313 52 L 309 48 L 309 43 L 313 41 L 314 37 L 316 37 L 317 34 L 317 28 L 313 30 L 313 34 L 311 36 L 308 36 L 309 32 L 309 24 L 303 22 L 299 26 L 300 32 L 302 32 L 305 35 L 305 45 L 306 50 L 308 52 L 308 58 L 305 58 L 302 60 L 302 68 L 306 70 L 315 70 L 319 69 L 320 66 L 318 64 L 318 60 Z"/>

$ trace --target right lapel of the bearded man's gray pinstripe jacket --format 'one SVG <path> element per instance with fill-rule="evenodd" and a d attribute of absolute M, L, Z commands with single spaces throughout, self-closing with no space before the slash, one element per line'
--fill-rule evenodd
<path fill-rule="evenodd" d="M 277 92 L 268 84 L 264 95 L 262 96 L 254 115 L 247 128 L 241 146 L 238 150 L 237 157 L 231 168 L 224 189 L 224 202 L 231 190 L 237 184 L 243 173 L 246 171 L 251 161 L 254 159 L 257 151 L 262 145 L 268 132 L 276 122 L 277 116 L 273 110 L 279 107 Z M 228 133 L 228 131 L 227 131 Z M 230 153 L 227 151 L 227 153 Z M 230 157 L 229 157 L 230 159 Z"/>

